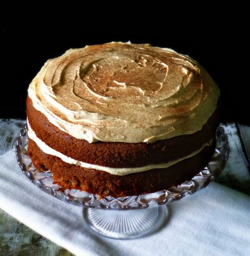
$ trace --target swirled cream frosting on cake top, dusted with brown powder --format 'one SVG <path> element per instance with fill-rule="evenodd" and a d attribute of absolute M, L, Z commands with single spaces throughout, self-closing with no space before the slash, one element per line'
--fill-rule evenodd
<path fill-rule="evenodd" d="M 76 139 L 138 143 L 197 132 L 215 111 L 219 89 L 188 56 L 113 42 L 48 60 L 28 95 Z"/>

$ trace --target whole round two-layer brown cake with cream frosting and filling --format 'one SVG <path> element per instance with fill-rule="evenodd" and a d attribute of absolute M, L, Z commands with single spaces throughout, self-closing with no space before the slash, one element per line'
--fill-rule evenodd
<path fill-rule="evenodd" d="M 71 49 L 28 88 L 28 153 L 63 188 L 114 197 L 168 189 L 210 160 L 218 100 L 206 70 L 171 49 Z"/>

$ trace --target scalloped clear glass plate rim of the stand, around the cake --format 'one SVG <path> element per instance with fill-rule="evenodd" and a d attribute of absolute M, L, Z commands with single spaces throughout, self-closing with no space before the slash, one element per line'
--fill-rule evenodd
<path fill-rule="evenodd" d="M 207 166 L 201 170 L 193 179 L 183 182 L 181 185 L 171 187 L 168 190 L 161 190 L 156 193 L 126 196 L 114 198 L 107 196 L 100 198 L 85 191 L 76 189 L 65 189 L 53 184 L 50 170 L 39 172 L 33 166 L 27 153 L 27 125 L 21 129 L 16 140 L 16 158 L 23 173 L 37 187 L 46 193 L 63 200 L 64 202 L 99 209 L 142 209 L 164 205 L 190 194 L 194 194 L 201 188 L 206 187 L 225 167 L 228 159 L 229 144 L 228 137 L 222 126 L 216 131 L 216 149 Z"/>

